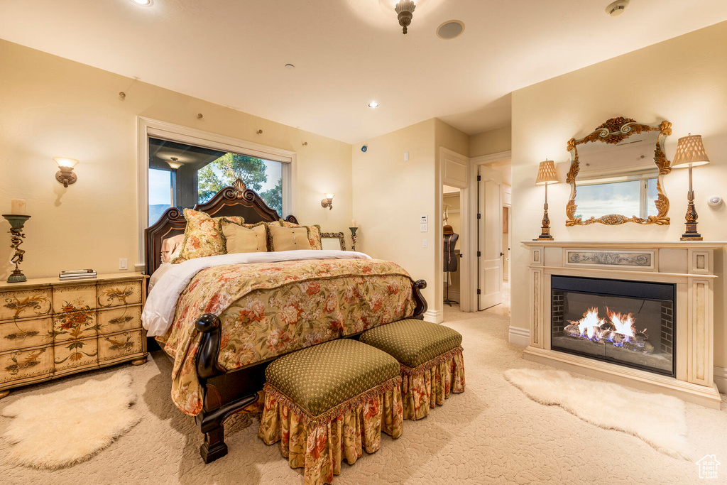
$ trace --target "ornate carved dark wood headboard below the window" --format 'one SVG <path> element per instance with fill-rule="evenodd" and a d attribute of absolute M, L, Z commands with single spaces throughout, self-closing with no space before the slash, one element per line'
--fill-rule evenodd
<path fill-rule="evenodd" d="M 245 223 L 272 223 L 281 219 L 275 209 L 270 209 L 257 192 L 245 187 L 245 183 L 238 179 L 230 187 L 225 187 L 214 194 L 209 202 L 197 204 L 194 210 L 206 212 L 212 217 L 225 215 L 238 215 L 245 218 Z M 290 223 L 297 224 L 294 215 L 285 218 Z M 182 210 L 177 207 L 166 209 L 159 220 L 145 231 L 145 262 L 146 274 L 151 274 L 161 265 L 161 242 L 164 239 L 183 234 L 187 221 Z"/>

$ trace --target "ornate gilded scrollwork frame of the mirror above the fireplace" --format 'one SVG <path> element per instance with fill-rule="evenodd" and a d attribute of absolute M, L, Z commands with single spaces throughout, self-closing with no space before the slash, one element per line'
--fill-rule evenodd
<path fill-rule="evenodd" d="M 656 168 L 659 169 L 659 175 L 656 177 L 656 191 L 659 195 L 654 202 L 656 209 L 659 211 L 657 215 L 651 215 L 646 217 L 627 217 L 618 214 L 608 214 L 602 217 L 590 217 L 589 219 L 582 220 L 576 216 L 576 176 L 580 169 L 580 162 L 578 158 L 578 145 L 584 143 L 601 142 L 615 145 L 621 143 L 631 135 L 638 135 L 646 132 L 659 132 L 659 137 L 656 140 L 656 148 L 654 148 L 654 163 Z M 664 153 L 664 140 L 666 137 L 672 134 L 672 124 L 669 121 L 662 121 L 661 124 L 653 126 L 648 124 L 640 124 L 630 118 L 612 118 L 601 124 L 600 127 L 596 128 L 594 132 L 591 132 L 584 138 L 576 140 L 571 138 L 568 142 L 568 151 L 571 153 L 571 169 L 566 177 L 566 182 L 571 185 L 571 197 L 566 205 L 566 226 L 572 225 L 589 225 L 594 223 L 601 223 L 606 225 L 619 225 L 625 223 L 637 223 L 637 224 L 657 224 L 657 225 L 669 225 L 670 220 L 667 217 L 669 212 L 669 199 L 667 199 L 666 193 L 663 189 L 663 177 L 672 171 L 671 161 L 667 159 L 666 153 Z"/>

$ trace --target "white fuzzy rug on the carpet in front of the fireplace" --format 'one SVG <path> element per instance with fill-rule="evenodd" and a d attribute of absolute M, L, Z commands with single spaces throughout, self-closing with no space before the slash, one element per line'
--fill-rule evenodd
<path fill-rule="evenodd" d="M 586 422 L 643 439 L 659 452 L 690 460 L 684 402 L 565 371 L 510 369 L 505 378 L 533 401 L 561 406 Z"/>

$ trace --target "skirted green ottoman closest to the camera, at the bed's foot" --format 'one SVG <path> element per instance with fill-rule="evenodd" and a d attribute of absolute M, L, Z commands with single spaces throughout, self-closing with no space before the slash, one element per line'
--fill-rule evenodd
<path fill-rule="evenodd" d="M 401 377 L 395 358 L 350 339 L 278 358 L 265 370 L 265 408 L 258 436 L 281 442 L 305 484 L 330 484 L 362 449 L 381 446 L 381 432 L 401 436 Z"/>

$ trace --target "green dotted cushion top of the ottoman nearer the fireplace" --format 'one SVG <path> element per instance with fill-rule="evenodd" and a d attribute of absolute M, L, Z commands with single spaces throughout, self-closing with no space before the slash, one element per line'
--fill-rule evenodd
<path fill-rule="evenodd" d="M 449 326 L 407 319 L 377 326 L 361 342 L 379 348 L 405 366 L 417 367 L 462 345 L 462 335 Z"/>

